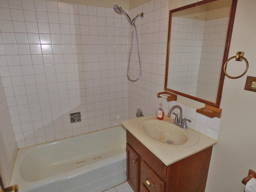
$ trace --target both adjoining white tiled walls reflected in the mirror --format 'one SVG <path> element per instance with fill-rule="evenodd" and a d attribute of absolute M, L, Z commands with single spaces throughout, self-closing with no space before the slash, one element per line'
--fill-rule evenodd
<path fill-rule="evenodd" d="M 173 17 L 168 87 L 216 101 L 228 19 L 202 21 Z"/>

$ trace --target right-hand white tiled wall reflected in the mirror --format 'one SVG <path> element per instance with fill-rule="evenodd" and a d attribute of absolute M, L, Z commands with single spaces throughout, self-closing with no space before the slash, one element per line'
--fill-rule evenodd
<path fill-rule="evenodd" d="M 205 22 L 196 96 L 212 102 L 218 94 L 228 22 L 229 17 Z"/>

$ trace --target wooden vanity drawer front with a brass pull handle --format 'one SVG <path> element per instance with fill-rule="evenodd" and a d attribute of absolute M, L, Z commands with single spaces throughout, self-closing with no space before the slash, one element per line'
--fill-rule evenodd
<path fill-rule="evenodd" d="M 144 185 L 149 192 L 164 192 L 164 181 L 146 164 L 146 162 L 144 162 L 144 160 L 141 162 L 140 183 Z"/>

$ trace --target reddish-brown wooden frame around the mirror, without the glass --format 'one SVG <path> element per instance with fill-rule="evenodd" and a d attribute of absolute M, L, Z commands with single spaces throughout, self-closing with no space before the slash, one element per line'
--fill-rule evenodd
<path fill-rule="evenodd" d="M 207 104 L 209 106 L 213 106 L 216 108 L 220 108 L 220 101 L 221 101 L 221 97 L 222 97 L 222 89 L 223 89 L 223 83 L 224 83 L 224 71 L 221 70 L 220 73 L 220 82 L 219 82 L 219 87 L 218 87 L 218 93 L 217 93 L 217 98 L 216 98 L 216 103 L 214 102 L 210 102 L 208 100 L 204 100 L 195 96 L 191 96 L 176 90 L 172 90 L 170 88 L 167 88 L 167 84 L 168 84 L 168 71 L 169 71 L 169 56 L 170 56 L 170 40 L 171 40 L 171 27 L 172 27 L 172 13 L 173 12 L 177 12 L 177 11 L 181 11 L 184 9 L 188 9 L 188 8 L 192 8 L 195 7 L 196 4 L 202 5 L 202 4 L 206 4 L 206 3 L 210 3 L 210 2 L 214 2 L 217 0 L 203 0 L 197 3 L 193 3 L 193 4 L 189 4 L 180 8 L 176 8 L 173 10 L 170 10 L 170 14 L 169 14 L 169 26 L 168 26 L 168 40 L 167 40 L 167 55 L 166 55 L 166 71 L 165 71 L 165 81 L 164 81 L 164 90 L 166 90 L 167 92 L 172 92 L 174 94 L 178 94 L 193 100 L 196 100 L 198 102 L 202 102 L 204 104 Z M 232 0 L 232 5 L 231 5 L 231 10 L 230 10 L 230 17 L 229 17 L 229 23 L 228 23 L 228 32 L 227 32 L 227 37 L 226 37 L 226 44 L 225 44 L 225 49 L 224 49 L 224 56 L 223 56 L 223 60 L 222 60 L 222 68 L 224 67 L 224 64 L 226 62 L 226 60 L 228 60 L 228 53 L 229 53 L 229 48 L 230 48 L 230 42 L 231 42 L 231 36 L 232 36 L 232 30 L 233 30 L 233 25 L 234 25 L 234 19 L 235 19 L 235 14 L 236 14 L 236 5 L 237 5 L 237 0 Z"/>

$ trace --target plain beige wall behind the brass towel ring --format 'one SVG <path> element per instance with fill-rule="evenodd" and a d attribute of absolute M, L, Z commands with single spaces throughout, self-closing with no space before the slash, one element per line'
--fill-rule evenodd
<path fill-rule="evenodd" d="M 218 144 L 212 153 L 207 192 L 242 192 L 242 178 L 249 169 L 256 170 L 256 92 L 244 90 L 246 76 L 256 76 L 255 7 L 255 0 L 238 0 L 229 57 L 244 51 L 249 70 L 242 78 L 224 80 L 222 123 Z M 230 74 L 242 73 L 245 69 L 244 65 L 230 64 Z"/>

